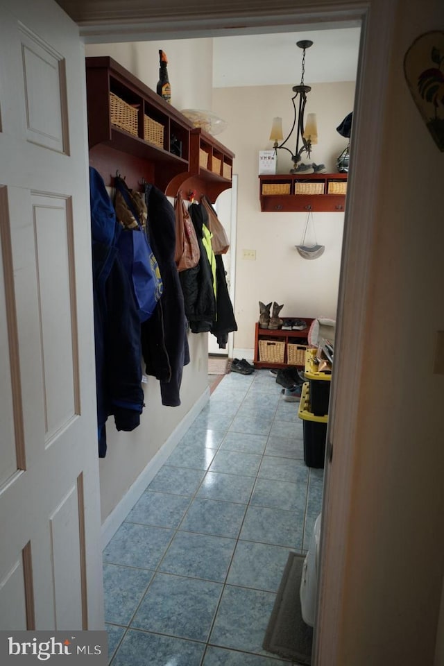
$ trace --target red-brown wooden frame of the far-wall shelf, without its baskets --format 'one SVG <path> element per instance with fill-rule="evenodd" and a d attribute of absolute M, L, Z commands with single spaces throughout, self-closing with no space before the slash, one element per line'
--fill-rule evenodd
<path fill-rule="evenodd" d="M 259 200 L 264 212 L 343 212 L 345 194 L 329 194 L 330 183 L 347 182 L 348 173 L 280 173 L 259 176 Z M 296 183 L 323 184 L 323 194 L 295 194 Z M 262 194 L 264 185 L 285 185 L 288 194 Z M 346 187 L 346 185 L 345 185 Z"/>

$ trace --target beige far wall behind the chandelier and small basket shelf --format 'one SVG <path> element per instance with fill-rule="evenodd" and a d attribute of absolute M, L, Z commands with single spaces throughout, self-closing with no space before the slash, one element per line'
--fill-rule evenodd
<path fill-rule="evenodd" d="M 353 82 L 316 84 L 309 94 L 307 112 L 316 112 L 319 135 L 311 160 L 323 162 L 328 171 L 336 171 L 336 157 L 347 146 L 336 126 L 352 110 L 354 94 Z M 273 117 L 282 116 L 284 130 L 291 128 L 291 96 L 291 85 L 213 90 L 213 110 L 228 121 L 218 138 L 236 153 L 234 173 L 239 174 L 234 304 L 239 327 L 234 347 L 239 349 L 253 350 L 259 300 L 284 303 L 282 316 L 336 316 L 343 213 L 314 214 L 316 237 L 325 252 L 307 261 L 294 247 L 307 214 L 260 210 L 259 151 L 273 147 L 268 140 Z M 288 173 L 291 166 L 287 152 L 278 151 L 278 173 Z M 255 262 L 242 258 L 244 249 L 256 250 Z"/>

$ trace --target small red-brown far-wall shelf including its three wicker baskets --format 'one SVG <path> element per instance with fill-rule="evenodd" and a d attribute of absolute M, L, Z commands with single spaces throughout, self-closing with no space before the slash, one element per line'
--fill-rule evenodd
<path fill-rule="evenodd" d="M 299 173 L 259 176 L 259 199 L 265 212 L 343 212 L 347 173 Z"/>

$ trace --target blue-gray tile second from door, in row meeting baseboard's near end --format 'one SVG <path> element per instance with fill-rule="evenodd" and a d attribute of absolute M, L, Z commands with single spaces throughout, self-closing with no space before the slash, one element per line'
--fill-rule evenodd
<path fill-rule="evenodd" d="M 159 570 L 209 581 L 225 580 L 236 541 L 222 536 L 178 531 Z"/>

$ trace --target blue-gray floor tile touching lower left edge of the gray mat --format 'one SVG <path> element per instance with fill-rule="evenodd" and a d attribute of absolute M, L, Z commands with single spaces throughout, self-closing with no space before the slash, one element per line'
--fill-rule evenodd
<path fill-rule="evenodd" d="M 275 597 L 273 592 L 225 586 L 210 642 L 221 647 L 266 654 L 262 642 Z"/>

